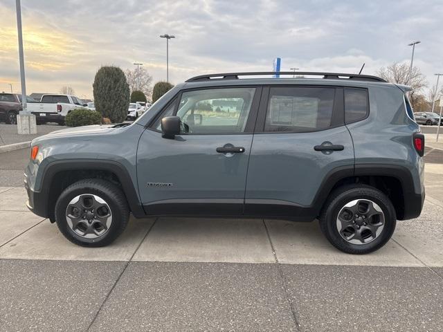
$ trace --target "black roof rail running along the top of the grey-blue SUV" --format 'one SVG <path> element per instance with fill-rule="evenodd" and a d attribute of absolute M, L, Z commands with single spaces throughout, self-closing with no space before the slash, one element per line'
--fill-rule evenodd
<path fill-rule="evenodd" d="M 358 81 L 374 81 L 374 82 L 386 82 L 381 77 L 372 75 L 359 75 L 359 74 L 346 74 L 346 73 L 320 73 L 316 71 L 280 71 L 275 73 L 273 71 L 257 71 L 246 73 L 219 73 L 208 74 L 191 77 L 186 82 L 200 82 L 206 80 L 237 80 L 239 76 L 257 76 L 257 75 L 316 75 L 323 76 L 320 78 L 327 80 L 358 80 Z"/>

